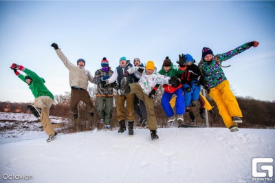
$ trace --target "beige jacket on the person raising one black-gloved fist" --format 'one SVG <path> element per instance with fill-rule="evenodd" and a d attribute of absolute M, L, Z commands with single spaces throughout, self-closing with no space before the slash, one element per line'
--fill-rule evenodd
<path fill-rule="evenodd" d="M 88 81 L 93 83 L 94 77 L 91 76 L 91 72 L 85 70 L 84 67 L 72 64 L 68 58 L 61 52 L 61 49 L 56 50 L 56 54 L 61 58 L 64 65 L 69 69 L 69 85 L 71 87 L 80 87 L 83 89 L 88 88 Z"/>

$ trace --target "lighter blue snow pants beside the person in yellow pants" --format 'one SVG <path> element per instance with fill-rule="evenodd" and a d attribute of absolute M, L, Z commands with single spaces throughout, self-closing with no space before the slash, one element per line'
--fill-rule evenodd
<path fill-rule="evenodd" d="M 190 92 L 187 92 L 186 89 Z M 199 92 L 201 92 L 201 84 L 197 80 L 192 80 L 190 84 L 182 85 L 184 89 L 184 103 L 185 106 L 190 106 L 191 100 L 198 100 L 199 99 Z"/>

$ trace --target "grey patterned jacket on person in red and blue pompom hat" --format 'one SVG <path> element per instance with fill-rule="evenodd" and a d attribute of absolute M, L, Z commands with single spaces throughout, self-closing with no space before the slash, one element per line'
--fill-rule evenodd
<path fill-rule="evenodd" d="M 111 83 L 109 85 L 102 85 L 100 83 L 100 78 L 103 76 L 109 75 L 111 78 L 111 75 L 113 74 L 113 71 L 111 70 L 111 67 L 109 67 L 109 70 L 107 72 L 104 72 L 102 69 L 98 69 L 95 72 L 94 76 L 94 83 L 98 85 L 96 88 L 96 96 L 113 96 L 113 88 L 117 86 L 117 83 Z"/>

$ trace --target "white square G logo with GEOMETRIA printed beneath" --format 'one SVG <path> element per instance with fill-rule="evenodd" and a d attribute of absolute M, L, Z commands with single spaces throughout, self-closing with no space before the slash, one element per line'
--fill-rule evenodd
<path fill-rule="evenodd" d="M 273 158 L 253 158 L 252 159 L 252 176 L 261 177 L 255 180 L 272 180 L 273 177 Z"/>

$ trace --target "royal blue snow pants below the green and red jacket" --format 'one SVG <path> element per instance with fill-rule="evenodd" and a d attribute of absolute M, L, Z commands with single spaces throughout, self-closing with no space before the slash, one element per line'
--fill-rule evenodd
<path fill-rule="evenodd" d="M 164 112 L 167 117 L 174 116 L 174 111 L 169 103 L 173 94 L 175 94 L 177 96 L 176 105 L 175 105 L 176 113 L 184 114 L 184 112 L 185 112 L 184 95 L 182 94 L 182 89 L 180 87 L 174 93 L 170 94 L 168 92 L 164 92 L 164 94 L 162 96 L 162 109 L 164 109 Z"/>

